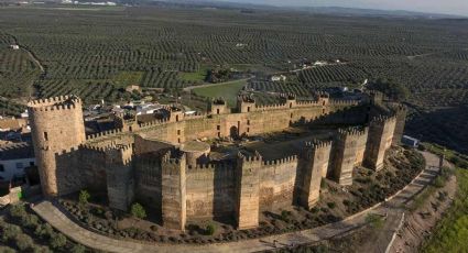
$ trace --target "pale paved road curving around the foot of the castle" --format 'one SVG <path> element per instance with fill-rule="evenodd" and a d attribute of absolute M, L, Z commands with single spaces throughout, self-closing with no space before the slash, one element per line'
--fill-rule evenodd
<path fill-rule="evenodd" d="M 382 206 L 376 207 L 372 210 L 366 210 L 352 217 L 349 217 L 342 221 L 323 226 L 315 229 L 291 232 L 281 235 L 271 235 L 262 239 L 252 239 L 244 240 L 240 242 L 229 242 L 229 243 L 214 243 L 205 245 L 171 245 L 171 244 L 146 244 L 134 241 L 123 241 L 107 238 L 94 232 L 90 232 L 78 224 L 69 220 L 61 210 L 58 210 L 52 202 L 42 201 L 34 206 L 34 211 L 51 223 L 55 229 L 63 232 L 70 239 L 87 245 L 92 249 L 98 249 L 108 252 L 257 252 L 264 250 L 272 250 L 273 241 L 276 240 L 279 248 L 286 248 L 291 244 L 308 244 L 318 242 L 322 240 L 330 239 L 346 232 L 349 232 L 356 228 L 361 227 L 366 223 L 366 217 L 370 212 L 378 212 L 381 215 L 387 213 L 388 219 L 385 224 L 387 233 L 378 235 L 377 240 L 373 241 L 373 244 L 381 243 L 387 246 L 390 242 L 389 234 L 392 234 L 392 228 L 399 221 L 399 213 L 401 213 L 401 205 L 407 204 L 415 194 L 418 194 L 425 185 L 429 184 L 435 177 L 438 168 L 434 167 L 434 157 L 429 154 L 425 154 L 427 158 L 426 169 L 413 180 L 412 184 L 406 186 L 401 193 L 399 193 L 394 198 L 389 200 Z M 437 164 L 438 162 L 436 162 Z M 391 237 L 391 235 L 390 235 Z M 384 243 L 387 242 L 387 243 Z M 372 251 L 374 252 L 374 249 Z"/>

